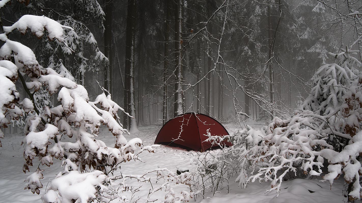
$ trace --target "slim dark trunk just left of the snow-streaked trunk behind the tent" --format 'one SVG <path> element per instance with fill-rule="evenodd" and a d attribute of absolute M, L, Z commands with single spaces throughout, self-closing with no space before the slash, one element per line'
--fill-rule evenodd
<path fill-rule="evenodd" d="M 170 24 L 170 18 L 171 18 L 171 12 L 170 12 L 170 0 L 165 0 L 165 7 L 166 7 L 166 21 L 165 21 L 165 50 L 164 50 L 164 64 L 163 64 L 163 116 L 162 116 L 162 124 L 165 124 L 168 120 L 167 117 L 167 91 L 168 91 L 168 84 L 167 84 L 167 70 L 168 70 L 168 41 L 169 41 L 169 24 Z"/>

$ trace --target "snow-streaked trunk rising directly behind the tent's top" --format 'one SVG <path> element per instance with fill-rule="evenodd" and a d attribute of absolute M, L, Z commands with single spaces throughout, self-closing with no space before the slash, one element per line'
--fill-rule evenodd
<path fill-rule="evenodd" d="M 184 113 L 182 98 L 182 61 L 181 61 L 181 2 L 176 0 L 175 8 L 175 104 L 174 116 Z"/>

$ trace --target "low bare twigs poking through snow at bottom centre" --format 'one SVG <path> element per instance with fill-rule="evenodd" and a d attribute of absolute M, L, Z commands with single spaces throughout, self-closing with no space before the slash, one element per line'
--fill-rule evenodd
<path fill-rule="evenodd" d="M 153 177 L 148 176 L 154 174 Z M 157 176 L 157 177 L 156 177 Z M 105 184 L 108 190 L 99 190 L 96 201 L 109 202 L 162 202 L 185 203 L 194 198 L 191 191 L 191 173 L 177 175 L 167 168 L 147 171 L 143 175 L 119 174 L 108 176 Z M 143 189 L 148 187 L 149 190 Z"/>

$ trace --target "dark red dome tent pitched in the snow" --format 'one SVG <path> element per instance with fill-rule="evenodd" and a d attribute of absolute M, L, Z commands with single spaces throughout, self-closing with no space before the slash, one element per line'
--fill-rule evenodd
<path fill-rule="evenodd" d="M 214 147 L 212 143 L 204 142 L 208 137 L 207 130 L 211 136 L 225 136 L 229 133 L 217 120 L 205 114 L 186 113 L 169 120 L 157 134 L 155 144 L 166 144 L 179 146 L 195 151 L 205 151 Z M 232 146 L 230 142 L 223 141 L 222 145 Z"/>

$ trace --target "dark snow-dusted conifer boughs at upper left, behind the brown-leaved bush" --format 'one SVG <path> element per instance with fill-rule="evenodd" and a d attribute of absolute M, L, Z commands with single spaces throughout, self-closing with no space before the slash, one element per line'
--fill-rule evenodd
<path fill-rule="evenodd" d="M 84 85 L 85 72 L 102 70 L 108 59 L 98 48 L 88 28 L 97 26 L 100 30 L 104 29 L 105 13 L 97 0 L 59 0 L 56 4 L 50 0 L 37 0 L 36 3 L 29 3 L 28 6 L 16 3 L 8 5 L 3 13 L 5 16 L 13 15 L 14 19 L 24 14 L 45 15 L 73 28 L 64 30 L 65 43 L 49 41 L 43 35 L 37 41 L 29 39 L 36 42 L 33 50 L 41 66 L 51 67 L 81 85 Z M 7 25 L 7 22 L 4 23 Z M 25 30 L 21 32 L 24 34 Z"/>

